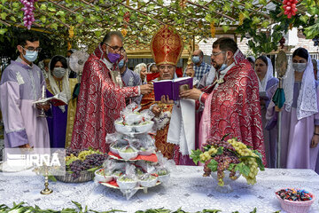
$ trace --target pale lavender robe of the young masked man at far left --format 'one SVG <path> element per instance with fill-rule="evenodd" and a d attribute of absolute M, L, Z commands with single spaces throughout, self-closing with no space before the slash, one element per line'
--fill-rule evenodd
<path fill-rule="evenodd" d="M 4 146 L 29 144 L 35 148 L 50 147 L 46 119 L 37 117 L 33 102 L 42 97 L 45 80 L 41 69 L 29 67 L 21 59 L 4 69 L 0 83 L 0 106 L 4 119 Z"/>

